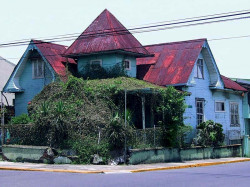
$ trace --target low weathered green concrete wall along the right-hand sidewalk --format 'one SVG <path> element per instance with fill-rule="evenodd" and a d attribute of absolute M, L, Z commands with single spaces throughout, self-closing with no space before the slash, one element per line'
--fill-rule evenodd
<path fill-rule="evenodd" d="M 213 158 L 241 157 L 242 145 L 205 148 L 159 148 L 130 150 L 129 164 L 150 164 L 162 162 L 181 162 Z"/>

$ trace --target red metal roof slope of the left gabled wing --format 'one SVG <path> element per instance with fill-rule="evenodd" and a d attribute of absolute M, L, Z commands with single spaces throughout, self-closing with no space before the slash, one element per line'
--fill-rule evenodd
<path fill-rule="evenodd" d="M 63 62 L 76 64 L 76 62 L 73 59 L 65 58 L 62 56 L 62 54 L 65 52 L 67 48 L 66 46 L 50 42 L 44 42 L 40 40 L 32 40 L 32 41 L 59 76 L 63 77 L 66 76 L 66 68 Z"/>

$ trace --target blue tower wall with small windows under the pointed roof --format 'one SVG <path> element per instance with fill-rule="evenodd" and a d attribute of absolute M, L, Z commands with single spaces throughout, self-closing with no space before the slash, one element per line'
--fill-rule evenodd
<path fill-rule="evenodd" d="M 90 63 L 91 60 L 101 59 L 102 67 L 105 69 L 111 68 L 115 64 L 121 64 L 123 60 L 128 59 L 131 62 L 131 70 L 127 71 L 128 76 L 136 77 L 136 59 L 133 56 L 127 56 L 122 54 L 103 54 L 103 55 L 91 55 L 86 57 L 80 57 L 77 62 L 78 72 L 84 72 L 84 67 Z"/>

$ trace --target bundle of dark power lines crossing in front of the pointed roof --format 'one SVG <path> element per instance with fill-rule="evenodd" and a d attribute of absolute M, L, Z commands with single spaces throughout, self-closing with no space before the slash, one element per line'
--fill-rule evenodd
<path fill-rule="evenodd" d="M 134 34 L 134 33 L 152 32 L 152 31 L 159 31 L 159 30 L 166 30 L 166 29 L 173 29 L 173 28 L 181 28 L 181 27 L 195 26 L 195 25 L 202 25 L 202 24 L 210 24 L 210 23 L 216 23 L 216 22 L 225 22 L 225 21 L 233 21 L 233 20 L 239 20 L 239 19 L 248 19 L 249 17 L 236 17 L 236 18 L 232 18 L 232 19 L 223 19 L 223 20 L 216 20 L 216 21 L 201 22 L 201 21 L 206 21 L 206 20 L 214 20 L 214 19 L 242 16 L 242 15 L 247 15 L 247 14 L 250 14 L 250 11 L 235 13 L 235 14 L 230 14 L 230 15 L 222 15 L 222 16 L 207 17 L 207 18 L 202 18 L 202 19 L 194 19 L 194 20 L 188 20 L 188 21 L 173 22 L 173 23 L 167 23 L 167 24 L 161 24 L 161 25 L 137 27 L 137 28 L 132 28 L 132 29 L 129 29 L 129 30 L 131 31 L 132 34 Z M 180 24 L 192 23 L 192 22 L 198 22 L 198 23 L 180 25 Z M 170 25 L 176 25 L 176 26 L 166 27 L 166 26 L 170 26 Z M 178 25 L 180 25 L 180 26 L 178 26 Z M 163 28 L 157 28 L 157 27 L 163 27 Z M 150 29 L 150 28 L 155 28 L 155 29 Z M 145 30 L 145 29 L 150 29 L 150 30 Z M 109 30 L 109 29 L 107 29 L 107 30 Z M 137 30 L 139 30 L 139 31 L 137 31 Z M 140 30 L 142 30 L 142 31 L 140 31 Z M 109 35 L 113 36 L 113 35 L 126 35 L 126 34 L 130 34 L 130 32 L 127 29 L 119 29 L 119 30 L 112 29 L 111 31 L 106 31 L 105 30 L 105 31 L 102 31 L 102 32 L 99 32 L 99 31 L 96 32 L 95 31 L 94 33 L 93 32 L 85 32 L 83 36 L 79 36 L 76 40 L 86 39 L 86 38 L 89 38 L 89 37 L 105 37 L 105 36 L 109 36 Z M 47 41 L 50 41 L 50 42 L 57 42 L 57 40 L 58 41 L 71 41 L 71 40 L 75 39 L 75 37 L 76 36 L 65 35 L 64 37 L 50 38 L 50 39 L 47 39 Z M 0 47 L 27 45 L 28 42 L 29 41 L 4 43 L 4 44 L 0 44 Z"/>

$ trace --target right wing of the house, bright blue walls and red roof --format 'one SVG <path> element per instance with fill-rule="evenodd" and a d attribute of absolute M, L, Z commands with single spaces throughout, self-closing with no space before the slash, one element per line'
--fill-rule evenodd
<path fill-rule="evenodd" d="M 137 78 L 190 93 L 185 124 L 206 120 L 223 125 L 228 143 L 245 134 L 243 96 L 247 90 L 220 75 L 206 39 L 144 46 L 154 54 L 137 60 Z"/>

